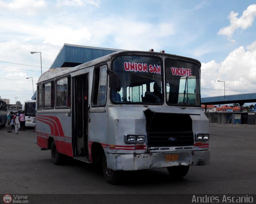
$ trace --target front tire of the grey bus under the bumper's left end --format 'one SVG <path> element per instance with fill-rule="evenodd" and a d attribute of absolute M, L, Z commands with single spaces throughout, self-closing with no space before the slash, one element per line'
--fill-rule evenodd
<path fill-rule="evenodd" d="M 109 184 L 115 185 L 120 182 L 121 172 L 112 170 L 107 167 L 107 158 L 104 152 L 102 156 L 102 169 L 103 169 L 104 178 Z"/>

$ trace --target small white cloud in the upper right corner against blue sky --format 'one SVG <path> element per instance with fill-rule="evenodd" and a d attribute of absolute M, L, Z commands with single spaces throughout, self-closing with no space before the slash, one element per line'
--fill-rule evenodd
<path fill-rule="evenodd" d="M 230 19 L 230 26 L 221 28 L 218 34 L 226 35 L 228 39 L 232 40 L 232 35 L 238 28 L 245 30 L 252 26 L 254 16 L 256 16 L 256 4 L 248 6 L 248 8 L 243 11 L 240 18 L 237 18 L 237 16 L 238 13 L 235 13 L 234 11 L 230 12 L 230 15 L 228 16 Z"/>

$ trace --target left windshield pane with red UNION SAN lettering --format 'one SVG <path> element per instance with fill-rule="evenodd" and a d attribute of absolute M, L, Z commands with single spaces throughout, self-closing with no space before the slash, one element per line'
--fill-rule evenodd
<path fill-rule="evenodd" d="M 119 56 L 112 70 L 119 86 L 111 88 L 114 103 L 162 104 L 162 60 L 157 57 Z"/>

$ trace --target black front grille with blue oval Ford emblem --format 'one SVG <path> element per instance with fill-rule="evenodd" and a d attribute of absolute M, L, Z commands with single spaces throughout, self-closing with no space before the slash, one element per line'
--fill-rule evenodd
<path fill-rule="evenodd" d="M 194 144 L 192 131 L 187 132 L 148 132 L 148 146 L 191 146 Z"/>

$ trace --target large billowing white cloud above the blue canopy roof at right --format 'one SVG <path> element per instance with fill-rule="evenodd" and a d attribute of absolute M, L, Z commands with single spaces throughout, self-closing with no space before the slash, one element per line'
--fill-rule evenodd
<path fill-rule="evenodd" d="M 220 96 L 223 94 L 224 84 L 218 80 L 225 81 L 226 95 L 241 94 L 231 90 L 256 90 L 256 42 L 248 46 L 246 51 L 243 46 L 230 52 L 221 63 L 211 61 L 202 63 L 201 76 L 202 88 L 212 88 L 208 95 Z M 251 49 L 253 48 L 254 49 Z M 205 94 L 207 90 L 202 89 Z M 250 91 L 248 91 L 250 92 Z M 252 91 L 255 92 L 255 91 Z"/>

